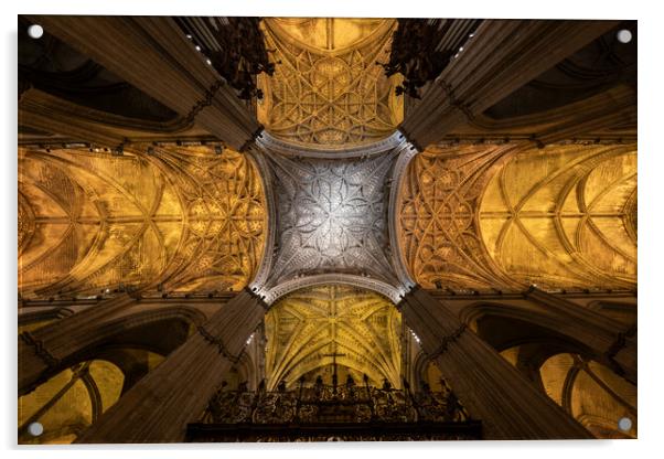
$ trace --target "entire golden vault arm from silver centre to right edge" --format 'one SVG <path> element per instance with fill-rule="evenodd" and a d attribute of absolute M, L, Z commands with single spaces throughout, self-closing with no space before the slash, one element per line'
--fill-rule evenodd
<path fill-rule="evenodd" d="M 408 167 L 397 234 L 426 288 L 631 288 L 634 146 L 429 149 Z"/>

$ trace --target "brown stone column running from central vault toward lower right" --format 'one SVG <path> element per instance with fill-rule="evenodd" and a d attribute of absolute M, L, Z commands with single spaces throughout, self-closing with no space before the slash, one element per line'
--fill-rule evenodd
<path fill-rule="evenodd" d="M 425 290 L 416 286 L 398 307 L 471 416 L 482 420 L 485 439 L 592 438 Z"/>

